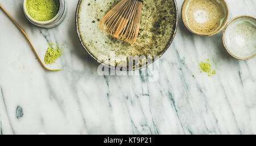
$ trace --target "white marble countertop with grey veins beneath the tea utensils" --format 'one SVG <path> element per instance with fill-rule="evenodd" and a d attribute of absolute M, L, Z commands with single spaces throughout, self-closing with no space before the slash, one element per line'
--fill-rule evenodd
<path fill-rule="evenodd" d="M 180 14 L 183 1 L 176 1 Z M 159 65 L 154 78 L 150 67 L 137 75 L 101 76 L 77 38 L 77 2 L 67 1 L 67 18 L 58 27 L 41 29 L 24 16 L 23 1 L 0 0 L 42 57 L 47 42 L 65 45 L 63 70 L 45 71 L 0 11 L 0 134 L 256 134 L 256 58 L 232 58 L 222 33 L 192 35 L 179 15 L 174 42 L 153 64 Z M 256 0 L 226 2 L 229 20 L 256 15 Z M 214 76 L 200 72 L 207 59 Z"/>

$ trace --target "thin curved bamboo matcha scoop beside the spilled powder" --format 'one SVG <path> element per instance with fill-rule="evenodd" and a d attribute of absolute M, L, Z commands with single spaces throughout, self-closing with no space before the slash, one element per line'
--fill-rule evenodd
<path fill-rule="evenodd" d="M 34 46 L 32 45 L 32 42 L 30 41 L 30 38 L 28 38 L 27 33 L 24 31 L 24 29 L 22 29 L 22 27 L 20 27 L 20 25 L 19 25 L 18 23 L 16 23 L 16 21 L 13 19 L 13 17 L 11 17 L 11 15 L 5 10 L 5 8 L 3 8 L 3 6 L 2 6 L 1 4 L 0 4 L 0 7 L 1 7 L 1 9 L 3 10 L 3 12 L 5 12 L 5 14 L 11 19 L 11 21 L 16 25 L 16 27 L 18 27 L 19 30 L 23 33 L 23 35 L 27 38 L 27 41 L 28 41 L 29 44 L 31 45 L 32 50 L 34 51 L 34 53 L 35 53 L 36 57 L 38 58 L 39 62 L 41 63 L 41 65 L 42 65 L 46 70 L 48 70 L 48 71 L 60 71 L 61 69 L 59 69 L 59 70 L 51 70 L 51 69 L 47 68 L 47 67 L 44 65 L 42 59 L 39 57 L 39 55 L 38 55 L 38 53 L 36 52 Z"/>

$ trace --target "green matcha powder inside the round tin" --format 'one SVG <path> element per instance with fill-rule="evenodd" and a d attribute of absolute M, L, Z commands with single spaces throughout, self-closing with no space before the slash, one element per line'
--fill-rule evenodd
<path fill-rule="evenodd" d="M 54 18 L 59 12 L 59 0 L 27 0 L 28 14 L 40 22 L 46 22 Z"/>

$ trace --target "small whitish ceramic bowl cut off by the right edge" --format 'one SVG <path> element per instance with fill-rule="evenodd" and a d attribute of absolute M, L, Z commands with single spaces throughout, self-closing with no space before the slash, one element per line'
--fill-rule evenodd
<path fill-rule="evenodd" d="M 223 44 L 230 55 L 240 60 L 256 56 L 256 18 L 242 15 L 232 19 L 226 25 Z"/>

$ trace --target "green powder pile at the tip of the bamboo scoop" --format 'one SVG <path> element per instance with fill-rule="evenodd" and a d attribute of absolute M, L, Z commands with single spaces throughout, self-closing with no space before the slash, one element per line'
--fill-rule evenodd
<path fill-rule="evenodd" d="M 58 59 L 61 56 L 61 49 L 59 46 L 56 45 L 56 49 L 53 48 L 52 44 L 49 44 L 49 48 L 46 52 L 46 57 L 44 58 L 44 62 L 46 65 L 51 65 L 52 63 L 55 63 L 56 59 Z"/>

